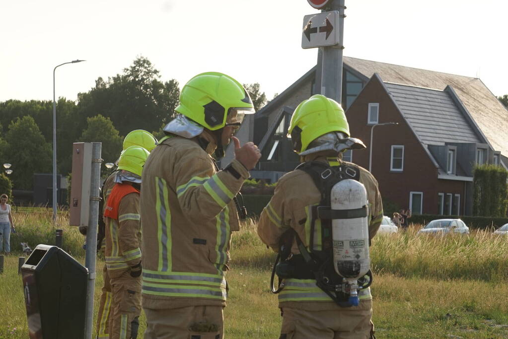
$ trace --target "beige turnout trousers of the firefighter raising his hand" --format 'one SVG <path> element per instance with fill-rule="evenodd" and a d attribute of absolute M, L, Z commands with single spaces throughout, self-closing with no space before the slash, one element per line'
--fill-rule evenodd
<path fill-rule="evenodd" d="M 143 309 L 144 339 L 223 339 L 222 306 L 191 306 L 178 309 Z"/>

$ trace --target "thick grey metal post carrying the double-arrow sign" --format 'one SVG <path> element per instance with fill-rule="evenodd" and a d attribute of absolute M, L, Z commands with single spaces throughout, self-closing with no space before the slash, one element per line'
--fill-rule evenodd
<path fill-rule="evenodd" d="M 321 94 L 341 104 L 342 98 L 342 50 L 344 49 L 345 0 L 333 0 L 326 11 L 339 11 L 339 45 L 323 47 Z M 318 54 L 319 55 L 319 54 Z"/>

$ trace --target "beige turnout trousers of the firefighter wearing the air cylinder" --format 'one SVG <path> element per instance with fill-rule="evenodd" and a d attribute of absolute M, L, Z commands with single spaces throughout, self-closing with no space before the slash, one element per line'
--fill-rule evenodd
<path fill-rule="evenodd" d="M 372 300 L 360 306 L 330 311 L 282 308 L 279 339 L 371 339 L 374 338 Z"/>

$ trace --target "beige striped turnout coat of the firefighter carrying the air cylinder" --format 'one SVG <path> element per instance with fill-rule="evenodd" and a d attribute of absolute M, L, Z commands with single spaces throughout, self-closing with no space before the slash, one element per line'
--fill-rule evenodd
<path fill-rule="evenodd" d="M 326 157 L 305 160 L 326 162 Z M 369 236 L 372 239 L 383 219 L 383 204 L 377 181 L 365 168 L 359 168 L 359 181 L 365 186 L 369 200 Z M 278 251 L 280 236 L 291 227 L 307 250 L 311 251 L 309 249 L 311 211 L 312 206 L 319 205 L 320 201 L 321 193 L 307 173 L 296 170 L 281 177 L 258 222 L 258 235 L 263 243 Z M 314 223 L 313 250 L 322 250 L 320 219 L 316 219 Z M 293 242 L 291 253 L 300 254 L 296 241 Z M 284 282 L 286 285 L 278 294 L 279 307 L 315 311 L 338 308 L 331 298 L 315 285 L 315 280 L 285 279 Z M 359 296 L 361 300 L 370 299 L 370 289 L 359 292 Z"/>

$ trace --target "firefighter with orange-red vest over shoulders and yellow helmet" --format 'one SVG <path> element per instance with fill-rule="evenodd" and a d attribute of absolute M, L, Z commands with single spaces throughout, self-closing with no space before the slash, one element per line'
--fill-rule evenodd
<path fill-rule="evenodd" d="M 150 153 L 130 146 L 120 154 L 115 185 L 106 200 L 106 266 L 111 285 L 111 339 L 136 338 L 141 314 L 141 173 Z"/>

